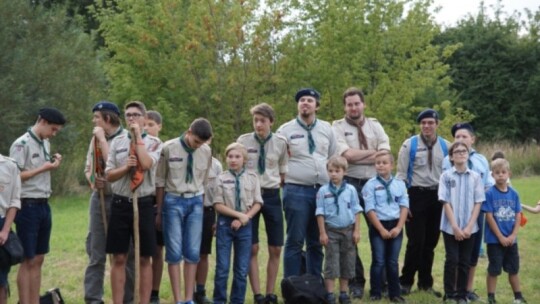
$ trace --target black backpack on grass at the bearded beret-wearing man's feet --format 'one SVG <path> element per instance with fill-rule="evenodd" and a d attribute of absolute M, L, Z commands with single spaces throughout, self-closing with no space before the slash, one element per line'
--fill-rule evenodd
<path fill-rule="evenodd" d="M 320 276 L 309 273 L 281 280 L 285 304 L 326 304 L 326 288 Z"/>

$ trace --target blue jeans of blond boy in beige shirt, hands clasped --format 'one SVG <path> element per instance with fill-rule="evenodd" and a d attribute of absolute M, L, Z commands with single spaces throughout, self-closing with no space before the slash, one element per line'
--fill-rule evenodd
<path fill-rule="evenodd" d="M 238 230 L 231 228 L 234 218 L 218 216 L 216 227 L 216 273 L 214 278 L 214 303 L 227 303 L 227 281 L 234 246 L 233 284 L 229 303 L 244 303 L 247 273 L 251 258 L 251 221 Z"/>

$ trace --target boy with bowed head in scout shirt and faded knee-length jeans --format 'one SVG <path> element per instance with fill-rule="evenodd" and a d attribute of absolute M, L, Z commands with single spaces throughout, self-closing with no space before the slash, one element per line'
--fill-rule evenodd
<path fill-rule="evenodd" d="M 212 165 L 212 150 L 206 141 L 212 126 L 195 119 L 179 138 L 163 146 L 156 179 L 158 223 L 162 222 L 165 260 L 176 303 L 193 303 L 195 272 L 199 262 L 203 194 Z M 160 218 L 161 214 L 161 218 Z M 180 295 L 180 262 L 184 263 L 184 299 Z"/>

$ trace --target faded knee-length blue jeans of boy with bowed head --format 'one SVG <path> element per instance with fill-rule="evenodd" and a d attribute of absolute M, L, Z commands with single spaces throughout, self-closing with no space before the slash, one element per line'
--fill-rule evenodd
<path fill-rule="evenodd" d="M 203 201 L 202 195 L 183 198 L 166 193 L 162 209 L 165 260 L 178 264 L 197 264 L 201 248 Z"/>

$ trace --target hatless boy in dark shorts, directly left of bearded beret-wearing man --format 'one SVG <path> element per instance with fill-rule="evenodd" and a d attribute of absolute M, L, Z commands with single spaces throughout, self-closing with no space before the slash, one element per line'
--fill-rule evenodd
<path fill-rule="evenodd" d="M 253 217 L 252 248 L 249 267 L 249 279 L 256 304 L 276 303 L 274 294 L 276 277 L 279 269 L 279 258 L 283 246 L 283 209 L 279 188 L 287 173 L 287 140 L 272 133 L 274 109 L 261 103 L 250 110 L 253 116 L 254 132 L 241 135 L 237 142 L 244 145 L 248 152 L 246 168 L 256 173 L 261 185 L 264 204 L 261 212 Z M 261 294 L 259 284 L 259 218 L 262 213 L 268 239 L 268 264 L 266 272 L 266 296 Z"/>

